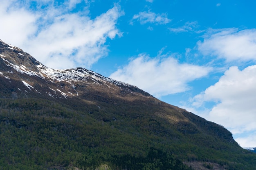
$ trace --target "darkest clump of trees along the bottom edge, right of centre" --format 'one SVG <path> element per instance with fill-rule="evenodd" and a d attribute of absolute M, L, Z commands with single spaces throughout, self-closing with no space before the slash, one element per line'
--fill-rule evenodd
<path fill-rule="evenodd" d="M 111 155 L 107 160 L 103 157 L 90 159 L 84 156 L 78 160 L 76 166 L 81 169 L 85 167 L 97 168 L 101 163 L 107 164 L 113 170 L 192 170 L 185 166 L 182 161 L 175 159 L 173 155 L 156 148 L 150 148 L 146 157 L 138 157 L 130 154 Z"/>

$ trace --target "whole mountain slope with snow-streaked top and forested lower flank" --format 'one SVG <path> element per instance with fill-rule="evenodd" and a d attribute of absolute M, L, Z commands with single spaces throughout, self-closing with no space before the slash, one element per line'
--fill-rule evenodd
<path fill-rule="evenodd" d="M 224 127 L 0 41 L 0 169 L 256 169 Z"/>

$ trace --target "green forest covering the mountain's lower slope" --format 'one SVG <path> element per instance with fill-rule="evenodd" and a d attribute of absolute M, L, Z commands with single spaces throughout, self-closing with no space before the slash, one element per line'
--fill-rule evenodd
<path fill-rule="evenodd" d="M 256 154 L 223 142 L 214 130 L 170 124 L 148 105 L 98 105 L 1 99 L 0 169 L 189 169 L 183 160 L 255 168 Z"/>

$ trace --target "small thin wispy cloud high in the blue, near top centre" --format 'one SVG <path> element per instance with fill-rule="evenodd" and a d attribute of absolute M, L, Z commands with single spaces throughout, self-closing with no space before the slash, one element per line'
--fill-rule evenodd
<path fill-rule="evenodd" d="M 131 25 L 133 24 L 133 20 L 139 21 L 140 24 L 146 24 L 148 22 L 155 24 L 167 24 L 171 22 L 166 13 L 156 14 L 150 11 L 139 12 L 139 14 L 133 15 L 130 22 Z"/>

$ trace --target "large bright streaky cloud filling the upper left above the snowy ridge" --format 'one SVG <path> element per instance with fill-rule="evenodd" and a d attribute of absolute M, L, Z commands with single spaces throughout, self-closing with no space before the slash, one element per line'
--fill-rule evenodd
<path fill-rule="evenodd" d="M 26 2 L 27 6 L 18 0 L 3 1 L 0 37 L 49 67 L 90 68 L 108 53 L 107 39 L 121 36 L 115 25 L 123 12 L 117 4 L 91 19 L 87 10 L 70 13 L 81 0 L 68 0 L 58 6 L 38 1 L 36 10 L 30 8 L 30 1 Z"/>

